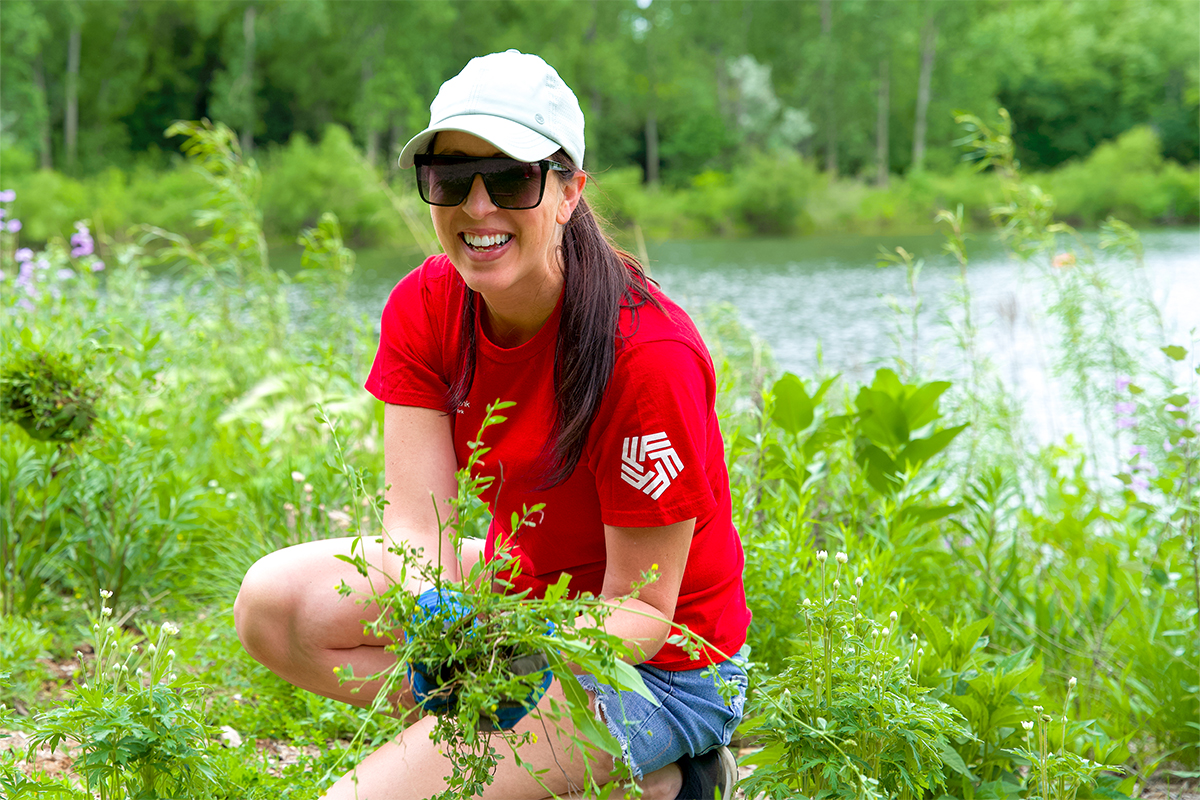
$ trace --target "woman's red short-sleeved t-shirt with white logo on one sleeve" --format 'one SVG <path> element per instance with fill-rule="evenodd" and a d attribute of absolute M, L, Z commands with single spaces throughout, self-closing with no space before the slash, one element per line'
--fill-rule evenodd
<path fill-rule="evenodd" d="M 366 381 L 372 395 L 398 405 L 445 408 L 461 351 L 464 291 L 445 255 L 427 259 L 396 285 Z M 514 512 L 544 503 L 536 525 L 523 527 L 512 542 L 521 560 L 516 589 L 532 589 L 535 596 L 563 572 L 571 576 L 572 591 L 600 594 L 605 524 L 648 528 L 695 517 L 674 621 L 733 655 L 745 643 L 750 609 L 716 422 L 713 362 L 688 315 L 662 294 L 655 296 L 665 311 L 646 305 L 635 319 L 622 309 L 612 377 L 566 481 L 536 491 L 539 456 L 554 422 L 562 303 L 532 339 L 515 348 L 493 344 L 476 321 L 474 381 L 451 421 L 455 452 L 464 464 L 467 443 L 490 403 L 516 403 L 503 411 L 508 421 L 484 434 L 491 452 L 479 471 L 494 476 L 484 494 L 493 515 L 485 557 L 493 557 L 498 537 L 509 540 Z M 668 670 L 697 666 L 673 644 L 647 663 Z"/>

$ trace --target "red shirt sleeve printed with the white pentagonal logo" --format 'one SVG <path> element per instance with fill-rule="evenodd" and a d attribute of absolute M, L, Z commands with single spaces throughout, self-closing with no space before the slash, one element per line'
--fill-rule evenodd
<path fill-rule="evenodd" d="M 710 363 L 683 342 L 618 351 L 587 451 L 605 524 L 670 525 L 715 507 L 706 471 L 714 398 Z"/>

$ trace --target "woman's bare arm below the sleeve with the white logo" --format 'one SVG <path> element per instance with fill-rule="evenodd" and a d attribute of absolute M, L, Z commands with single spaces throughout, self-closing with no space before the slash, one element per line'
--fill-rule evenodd
<path fill-rule="evenodd" d="M 695 518 L 659 528 L 605 525 L 607 566 L 602 594 L 617 606 L 605 627 L 625 640 L 632 652 L 631 663 L 653 658 L 671 634 L 695 528 Z M 636 599 L 630 597 L 632 584 L 652 571 L 658 573 L 658 581 L 642 587 Z"/>

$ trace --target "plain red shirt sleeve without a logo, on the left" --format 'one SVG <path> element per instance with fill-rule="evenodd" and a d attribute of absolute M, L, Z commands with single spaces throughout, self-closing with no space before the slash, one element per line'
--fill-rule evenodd
<path fill-rule="evenodd" d="M 409 272 L 396 284 L 379 323 L 379 349 L 367 375 L 366 390 L 385 403 L 442 409 L 450 377 L 446 353 L 458 331 L 444 288 L 432 260 Z"/>

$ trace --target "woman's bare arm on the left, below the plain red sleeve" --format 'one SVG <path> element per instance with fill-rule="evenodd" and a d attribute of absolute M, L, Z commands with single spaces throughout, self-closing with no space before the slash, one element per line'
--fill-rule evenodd
<path fill-rule="evenodd" d="M 449 531 L 440 534 L 442 524 L 450 517 L 446 503 L 458 492 L 455 481 L 457 461 L 450 432 L 450 417 L 440 410 L 413 405 L 384 407 L 384 495 L 383 567 L 389 579 L 400 575 L 400 557 L 390 552 L 395 546 L 424 548 L 424 559 L 440 564 L 444 575 L 458 579 L 458 561 L 450 543 Z M 410 591 L 420 593 L 427 584 L 409 577 Z"/>

